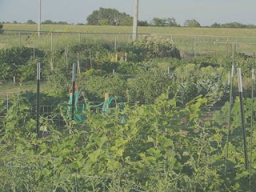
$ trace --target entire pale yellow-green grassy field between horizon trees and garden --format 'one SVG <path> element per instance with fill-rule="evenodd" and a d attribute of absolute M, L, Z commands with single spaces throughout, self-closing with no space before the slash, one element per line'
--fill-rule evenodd
<path fill-rule="evenodd" d="M 36 32 L 36 24 L 5 24 L 3 29 L 6 31 L 0 35 L 0 49 L 11 46 L 34 46 L 44 50 L 57 50 L 78 42 L 98 40 L 109 42 L 114 47 L 115 40 L 117 45 L 120 45 L 131 42 L 132 38 L 132 26 L 42 25 L 41 30 L 44 32 L 40 38 Z M 139 37 L 147 34 L 154 37 L 162 36 L 164 40 L 170 39 L 184 57 L 232 54 L 235 44 L 238 52 L 256 51 L 255 29 L 140 26 L 138 33 Z"/>

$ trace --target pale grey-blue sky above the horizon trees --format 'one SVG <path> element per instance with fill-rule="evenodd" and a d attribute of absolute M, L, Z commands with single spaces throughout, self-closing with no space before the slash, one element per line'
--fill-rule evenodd
<path fill-rule="evenodd" d="M 86 23 L 99 7 L 114 8 L 131 16 L 134 0 L 41 0 L 42 22 Z M 139 0 L 139 20 L 175 18 L 182 25 L 195 19 L 201 26 L 214 22 L 241 22 L 256 25 L 255 0 Z M 38 22 L 38 0 L 0 0 L 0 22 Z"/>

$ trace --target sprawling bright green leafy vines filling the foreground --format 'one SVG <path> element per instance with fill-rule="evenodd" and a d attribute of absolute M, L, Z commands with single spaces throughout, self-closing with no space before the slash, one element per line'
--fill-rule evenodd
<path fill-rule="evenodd" d="M 154 104 L 126 105 L 105 115 L 87 110 L 82 125 L 63 116 L 68 123 L 62 130 L 56 130 L 51 118 L 42 118 L 40 126 L 46 126 L 47 132 L 38 138 L 30 103 L 19 98 L 2 121 L 0 189 L 249 190 L 242 142 L 235 138 L 225 174 L 225 126 L 203 120 L 202 109 L 211 101 L 200 96 L 185 108 L 178 101 L 166 93 Z M 125 121 L 120 121 L 124 115 Z M 249 110 L 246 118 L 250 118 Z M 239 124 L 233 130 L 239 130 Z"/>

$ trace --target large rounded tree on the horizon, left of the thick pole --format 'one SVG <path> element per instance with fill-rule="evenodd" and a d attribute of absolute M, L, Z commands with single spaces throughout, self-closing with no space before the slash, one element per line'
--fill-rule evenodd
<path fill-rule="evenodd" d="M 86 20 L 87 25 L 99 26 L 99 25 L 111 25 L 111 26 L 121 26 L 122 24 L 127 25 L 127 21 L 130 19 L 130 15 L 126 13 L 120 13 L 118 10 L 110 8 L 102 8 L 99 10 L 94 10 Z M 107 20 L 107 22 L 106 22 Z M 122 22 L 122 20 L 124 20 Z"/>

